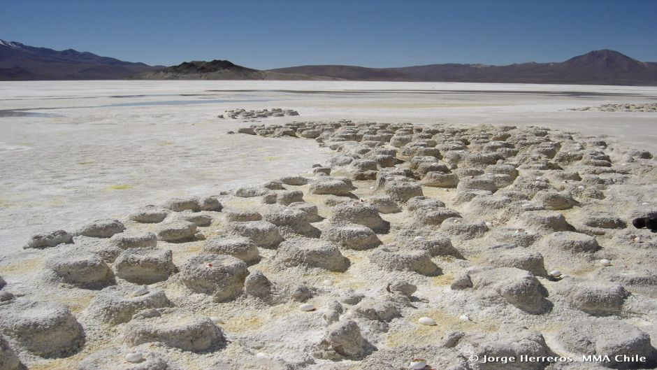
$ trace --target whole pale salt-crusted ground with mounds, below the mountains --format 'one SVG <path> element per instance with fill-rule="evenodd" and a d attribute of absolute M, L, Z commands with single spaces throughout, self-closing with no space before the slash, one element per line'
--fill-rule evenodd
<path fill-rule="evenodd" d="M 657 366 L 656 87 L 0 96 L 1 370 Z"/>

